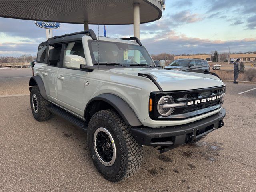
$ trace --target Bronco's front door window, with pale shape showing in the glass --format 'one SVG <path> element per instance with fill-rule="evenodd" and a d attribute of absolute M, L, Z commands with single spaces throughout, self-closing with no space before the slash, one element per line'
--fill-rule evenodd
<path fill-rule="evenodd" d="M 85 56 L 82 42 L 70 42 L 65 44 L 63 67 L 79 69 L 81 62 L 84 59 Z"/>

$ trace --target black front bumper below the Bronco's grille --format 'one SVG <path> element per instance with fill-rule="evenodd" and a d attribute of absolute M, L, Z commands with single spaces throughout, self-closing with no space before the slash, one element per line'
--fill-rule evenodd
<path fill-rule="evenodd" d="M 224 125 L 225 115 L 226 110 L 222 108 L 212 116 L 188 124 L 163 128 L 132 128 L 131 130 L 139 144 L 161 146 L 160 152 L 166 152 L 221 128 Z"/>

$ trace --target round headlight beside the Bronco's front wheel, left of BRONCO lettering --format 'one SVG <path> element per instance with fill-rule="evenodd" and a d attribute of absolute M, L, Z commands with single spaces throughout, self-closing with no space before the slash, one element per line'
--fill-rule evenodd
<path fill-rule="evenodd" d="M 168 104 L 174 104 L 174 99 L 169 95 L 162 96 L 157 103 L 158 113 L 163 117 L 169 116 L 174 110 L 174 107 L 168 107 Z"/>

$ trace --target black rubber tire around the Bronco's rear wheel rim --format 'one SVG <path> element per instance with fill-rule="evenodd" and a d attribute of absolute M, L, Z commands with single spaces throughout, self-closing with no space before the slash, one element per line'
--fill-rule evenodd
<path fill-rule="evenodd" d="M 36 113 L 33 108 L 32 104 L 32 96 L 36 95 L 37 102 L 38 102 L 38 112 Z M 46 106 L 49 105 L 50 102 L 42 97 L 40 94 L 40 90 L 38 86 L 33 86 L 30 92 L 30 106 L 33 113 L 33 116 L 38 121 L 45 121 L 52 117 L 52 112 L 46 109 Z"/>

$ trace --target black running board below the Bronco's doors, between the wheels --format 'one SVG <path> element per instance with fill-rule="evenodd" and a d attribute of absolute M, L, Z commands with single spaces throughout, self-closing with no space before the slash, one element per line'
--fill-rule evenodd
<path fill-rule="evenodd" d="M 80 127 L 82 130 L 87 131 L 88 123 L 81 120 L 80 118 L 75 117 L 74 115 L 70 114 L 69 112 L 65 111 L 64 109 L 52 104 L 46 106 L 46 108 L 51 111 L 52 113 L 68 120 L 69 122 L 73 123 L 74 125 Z"/>

